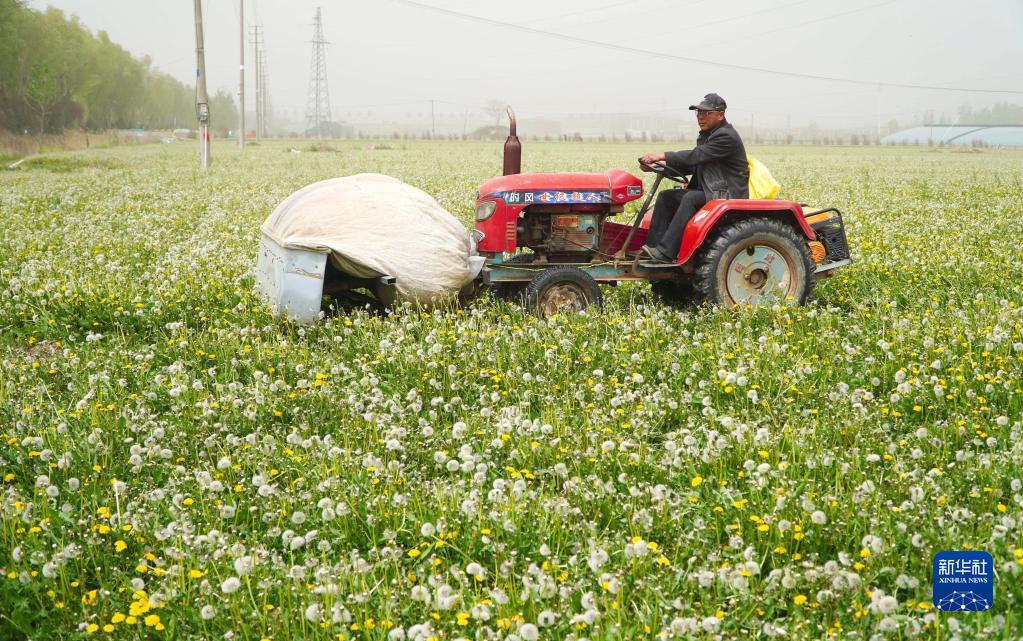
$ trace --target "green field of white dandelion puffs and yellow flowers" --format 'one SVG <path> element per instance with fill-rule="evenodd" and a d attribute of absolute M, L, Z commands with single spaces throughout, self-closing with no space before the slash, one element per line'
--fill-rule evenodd
<path fill-rule="evenodd" d="M 371 171 L 469 226 L 500 170 L 500 143 L 337 146 L 0 171 L 0 638 L 1023 634 L 1023 154 L 754 149 L 846 216 L 854 265 L 802 308 L 634 283 L 298 327 L 252 292 L 277 202 Z M 991 553 L 990 610 L 931 606 L 947 549 Z"/>

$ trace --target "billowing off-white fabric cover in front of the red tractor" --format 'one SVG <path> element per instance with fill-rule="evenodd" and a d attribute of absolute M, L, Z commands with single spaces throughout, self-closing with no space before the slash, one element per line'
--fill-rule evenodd
<path fill-rule="evenodd" d="M 394 276 L 399 299 L 426 305 L 457 293 L 483 263 L 457 219 L 422 190 L 381 174 L 304 187 L 262 230 L 285 248 L 329 254 L 353 276 Z"/>

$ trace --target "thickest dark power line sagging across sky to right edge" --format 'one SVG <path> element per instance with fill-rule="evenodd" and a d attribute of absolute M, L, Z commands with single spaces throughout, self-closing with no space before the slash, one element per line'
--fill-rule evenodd
<path fill-rule="evenodd" d="M 547 38 L 557 38 L 559 40 L 565 40 L 568 42 L 576 42 L 580 44 L 590 45 L 594 47 L 603 47 L 606 49 L 613 49 L 615 51 L 621 51 L 623 53 L 633 53 L 637 55 L 646 55 L 657 58 L 664 58 L 668 60 L 678 60 L 681 62 L 690 62 L 693 64 L 704 64 L 707 66 L 716 66 L 719 68 L 730 68 L 742 72 L 752 72 L 757 74 L 770 74 L 773 76 L 785 76 L 788 78 L 801 78 L 803 80 L 820 80 L 827 82 L 836 83 L 847 83 L 852 85 L 863 85 L 870 87 L 890 87 L 894 89 L 922 89 L 928 91 L 948 91 L 957 93 L 991 93 L 991 94 L 1023 94 L 1023 90 L 1013 91 L 1008 89 L 975 89 L 975 88 L 959 88 L 959 87 L 938 87 L 932 85 L 914 85 L 907 83 L 886 83 L 878 82 L 873 80 L 858 80 L 853 78 L 837 78 L 834 76 L 817 76 L 815 74 L 802 74 L 799 72 L 784 72 L 780 70 L 765 68 L 761 66 L 748 66 L 745 64 L 732 64 L 728 62 L 715 62 L 713 60 L 706 60 L 703 58 L 694 58 L 685 55 L 678 55 L 674 53 L 667 53 L 664 51 L 652 51 L 650 49 L 640 49 L 638 47 L 630 47 L 627 45 L 620 45 L 610 42 L 602 42 L 598 40 L 589 40 L 588 38 L 579 38 L 578 36 L 570 36 L 568 34 L 561 34 L 557 32 L 548 32 L 542 29 L 534 29 L 532 27 L 525 27 L 523 25 L 516 25 L 514 22 L 502 22 L 500 20 L 490 19 L 488 17 L 483 17 L 482 15 L 474 15 L 472 13 L 462 13 L 461 11 L 452 11 L 450 9 L 445 9 L 442 7 L 437 7 L 430 4 L 424 4 L 421 2 L 415 2 L 414 0 L 391 0 L 396 4 L 403 4 L 405 6 L 410 6 L 416 9 L 422 9 L 426 11 L 434 11 L 436 13 L 442 13 L 444 15 L 449 15 L 452 17 L 458 17 L 466 20 L 473 20 L 476 22 L 481 22 L 484 25 L 490 25 L 492 27 L 501 27 L 504 29 L 510 29 L 514 31 L 519 31 L 527 34 L 532 34 L 535 36 L 545 36 Z"/>

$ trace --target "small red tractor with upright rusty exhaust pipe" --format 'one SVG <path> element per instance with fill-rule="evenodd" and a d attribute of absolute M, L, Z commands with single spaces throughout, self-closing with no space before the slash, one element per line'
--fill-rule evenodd
<path fill-rule="evenodd" d="M 665 178 L 685 178 L 663 165 L 649 168 L 657 178 L 635 220 L 615 223 L 626 202 L 642 197 L 639 178 L 621 170 L 523 174 L 510 108 L 508 118 L 504 176 L 477 193 L 477 246 L 487 259 L 481 276 L 497 295 L 542 316 L 599 305 L 598 283 L 626 280 L 651 281 L 667 301 L 801 304 L 818 278 L 850 263 L 837 209 L 748 199 L 708 201 L 686 225 L 674 263 L 643 263 L 650 203 Z"/>

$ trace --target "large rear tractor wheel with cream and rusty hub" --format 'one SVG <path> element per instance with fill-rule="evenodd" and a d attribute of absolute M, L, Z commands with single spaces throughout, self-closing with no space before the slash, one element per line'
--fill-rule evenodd
<path fill-rule="evenodd" d="M 810 248 L 781 220 L 754 218 L 723 227 L 697 263 L 697 287 L 710 303 L 802 305 L 813 288 Z"/>

